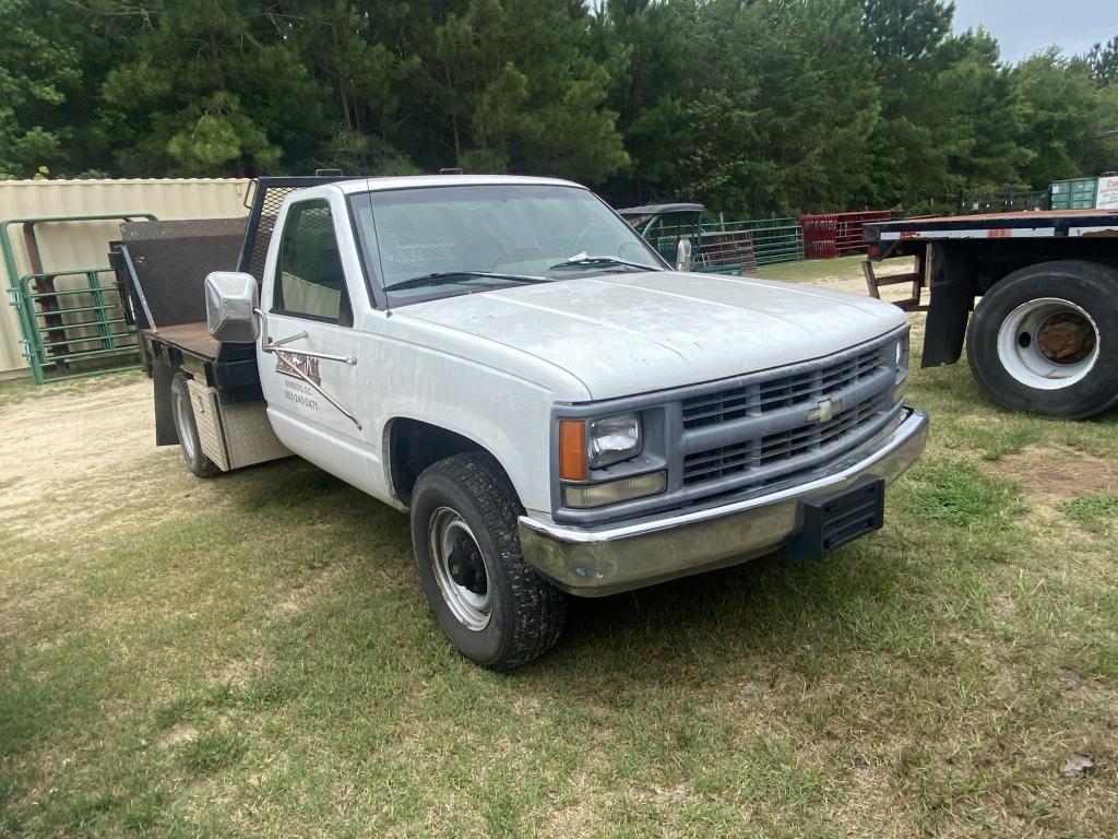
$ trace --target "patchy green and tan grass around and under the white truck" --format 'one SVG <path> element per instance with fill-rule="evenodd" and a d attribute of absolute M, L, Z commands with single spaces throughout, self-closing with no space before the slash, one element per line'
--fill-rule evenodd
<path fill-rule="evenodd" d="M 1118 415 L 1012 416 L 965 365 L 910 399 L 882 531 L 575 601 L 503 676 L 435 625 L 405 516 L 122 455 L 70 489 L 97 527 L 0 522 L 0 835 L 1115 836 L 1115 499 L 1044 512 L 1006 464 L 1112 460 Z"/>

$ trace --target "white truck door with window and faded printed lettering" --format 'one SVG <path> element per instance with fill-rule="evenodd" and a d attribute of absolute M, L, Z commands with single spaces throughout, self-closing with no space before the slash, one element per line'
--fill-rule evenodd
<path fill-rule="evenodd" d="M 363 373 L 354 329 L 360 282 L 347 282 L 341 226 L 325 198 L 292 204 L 268 261 L 262 293 L 260 384 L 280 440 L 296 454 L 358 487 L 371 477 L 358 416 Z M 344 220 L 344 216 L 342 216 Z"/>

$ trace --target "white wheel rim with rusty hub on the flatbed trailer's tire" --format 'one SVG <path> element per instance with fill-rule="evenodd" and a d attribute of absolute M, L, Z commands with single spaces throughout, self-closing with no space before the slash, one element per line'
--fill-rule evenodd
<path fill-rule="evenodd" d="M 997 357 L 1015 380 L 1038 390 L 1082 381 L 1099 360 L 1099 328 L 1081 307 L 1038 298 L 1014 309 L 997 331 Z"/>

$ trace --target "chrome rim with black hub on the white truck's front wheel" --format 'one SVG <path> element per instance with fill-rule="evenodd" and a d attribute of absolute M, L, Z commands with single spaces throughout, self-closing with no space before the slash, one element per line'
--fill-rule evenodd
<path fill-rule="evenodd" d="M 468 630 L 485 629 L 493 609 L 493 587 L 470 525 L 449 507 L 439 507 L 430 517 L 427 543 L 435 582 L 451 614 Z"/>

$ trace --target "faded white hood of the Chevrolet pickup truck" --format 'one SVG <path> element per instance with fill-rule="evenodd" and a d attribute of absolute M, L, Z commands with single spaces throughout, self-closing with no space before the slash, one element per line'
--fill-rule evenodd
<path fill-rule="evenodd" d="M 807 361 L 907 322 L 870 298 L 747 277 L 606 274 L 395 310 L 561 368 L 591 399 Z"/>

